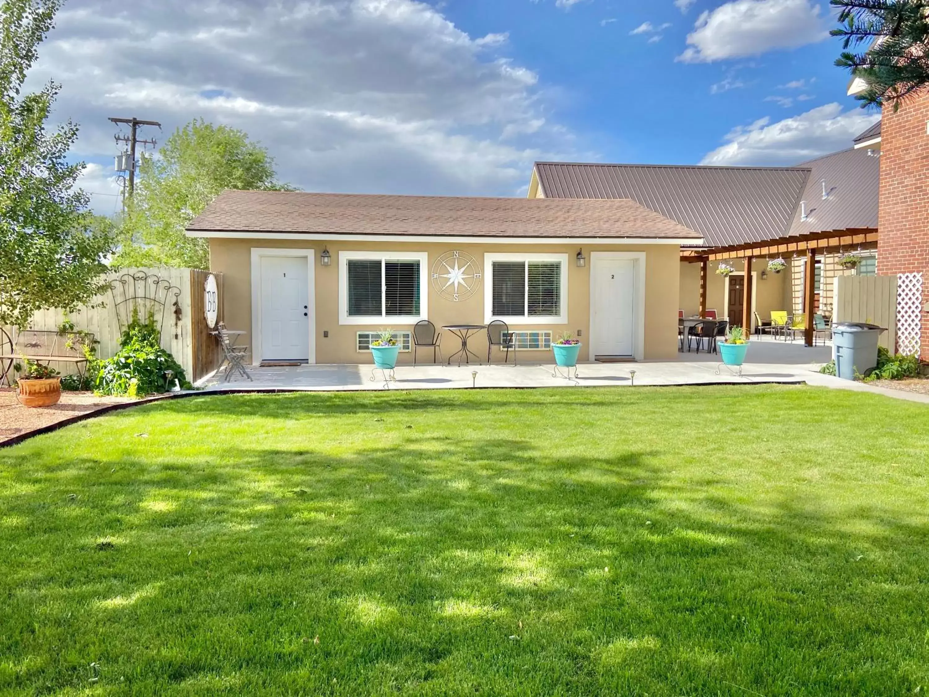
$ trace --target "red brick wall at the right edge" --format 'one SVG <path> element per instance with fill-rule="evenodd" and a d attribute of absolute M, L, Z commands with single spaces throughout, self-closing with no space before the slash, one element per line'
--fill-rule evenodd
<path fill-rule="evenodd" d="M 883 110 L 878 273 L 923 274 L 929 302 L 929 92 Z M 922 358 L 929 359 L 929 316 L 922 315 Z"/>

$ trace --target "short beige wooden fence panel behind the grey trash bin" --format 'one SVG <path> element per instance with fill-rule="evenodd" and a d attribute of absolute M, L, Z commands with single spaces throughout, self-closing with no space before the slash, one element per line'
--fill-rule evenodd
<path fill-rule="evenodd" d="M 837 276 L 832 322 L 868 322 L 886 327 L 880 345 L 896 353 L 896 276 Z"/>

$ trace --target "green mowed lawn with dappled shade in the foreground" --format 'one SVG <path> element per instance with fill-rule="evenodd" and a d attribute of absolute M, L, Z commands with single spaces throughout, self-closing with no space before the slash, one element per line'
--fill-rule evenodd
<path fill-rule="evenodd" d="M 0 692 L 924 692 L 927 454 L 802 387 L 111 414 L 0 450 Z"/>

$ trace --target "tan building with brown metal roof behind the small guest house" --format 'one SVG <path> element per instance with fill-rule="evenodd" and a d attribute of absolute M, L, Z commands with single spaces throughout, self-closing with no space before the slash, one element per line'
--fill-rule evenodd
<path fill-rule="evenodd" d="M 704 244 L 682 251 L 680 309 L 715 309 L 733 324 L 748 319 L 753 326 L 755 313 L 805 311 L 810 249 L 815 311 L 830 314 L 831 279 L 854 272 L 838 266 L 841 253 L 862 251 L 869 258 L 857 272 L 874 272 L 878 159 L 853 149 L 795 167 L 537 163 L 529 195 L 629 198 L 697 230 Z M 779 256 L 790 270 L 768 272 L 767 261 Z M 753 261 L 749 283 L 745 257 Z M 708 263 L 720 260 L 736 269 L 728 278 Z"/>

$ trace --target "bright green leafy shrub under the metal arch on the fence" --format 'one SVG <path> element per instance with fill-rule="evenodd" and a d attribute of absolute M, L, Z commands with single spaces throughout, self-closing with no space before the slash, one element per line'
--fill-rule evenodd
<path fill-rule="evenodd" d="M 141 322 L 134 314 L 119 344 L 115 356 L 94 362 L 94 387 L 98 393 L 144 397 L 168 391 L 175 380 L 182 388 L 192 387 L 174 356 L 162 349 L 161 335 L 152 317 Z"/>

